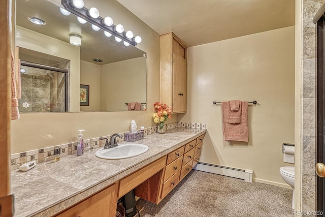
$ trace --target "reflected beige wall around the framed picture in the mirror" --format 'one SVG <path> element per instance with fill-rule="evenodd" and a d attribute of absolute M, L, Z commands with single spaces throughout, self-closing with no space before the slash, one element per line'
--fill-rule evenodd
<path fill-rule="evenodd" d="M 80 84 L 89 85 L 89 106 L 80 111 L 100 111 L 101 66 L 80 60 Z"/>

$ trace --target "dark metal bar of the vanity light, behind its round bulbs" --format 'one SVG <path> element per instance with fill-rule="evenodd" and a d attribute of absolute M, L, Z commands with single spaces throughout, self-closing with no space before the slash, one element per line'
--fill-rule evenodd
<path fill-rule="evenodd" d="M 122 33 L 116 32 L 116 30 L 115 30 L 116 25 L 113 24 L 111 26 L 108 26 L 108 25 L 103 24 L 104 18 L 100 17 L 100 16 L 98 18 L 89 17 L 88 16 L 89 10 L 87 8 L 85 8 L 85 7 L 80 8 L 80 9 L 76 8 L 72 2 L 73 2 L 73 0 L 61 0 L 61 5 L 64 7 L 64 9 L 66 9 L 67 11 L 76 15 L 77 17 L 80 17 L 80 18 L 88 21 L 89 23 L 100 27 L 101 29 L 112 34 L 113 36 L 122 39 L 124 42 L 127 42 L 133 46 L 137 45 L 137 43 L 135 42 L 135 40 L 136 40 L 135 37 L 129 39 L 125 36 L 126 35 L 125 31 L 123 31 Z"/>

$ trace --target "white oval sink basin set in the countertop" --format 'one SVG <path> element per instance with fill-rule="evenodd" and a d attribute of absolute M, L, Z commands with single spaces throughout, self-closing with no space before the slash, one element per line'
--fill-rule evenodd
<path fill-rule="evenodd" d="M 147 145 L 139 143 L 122 143 L 114 148 L 98 149 L 95 156 L 103 159 L 123 159 L 138 156 L 149 149 Z"/>

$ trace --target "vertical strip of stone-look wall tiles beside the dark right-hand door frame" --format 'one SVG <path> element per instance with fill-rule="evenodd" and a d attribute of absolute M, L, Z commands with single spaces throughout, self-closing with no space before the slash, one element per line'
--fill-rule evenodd
<path fill-rule="evenodd" d="M 325 0 L 303 0 L 302 14 L 302 210 L 316 209 L 316 27 L 312 19 Z"/>

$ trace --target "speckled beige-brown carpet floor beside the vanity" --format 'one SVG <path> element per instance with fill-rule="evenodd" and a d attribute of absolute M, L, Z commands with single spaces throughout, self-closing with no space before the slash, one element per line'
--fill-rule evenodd
<path fill-rule="evenodd" d="M 158 205 L 140 199 L 141 217 L 293 216 L 293 190 L 191 171 Z"/>

